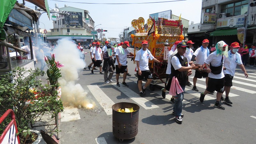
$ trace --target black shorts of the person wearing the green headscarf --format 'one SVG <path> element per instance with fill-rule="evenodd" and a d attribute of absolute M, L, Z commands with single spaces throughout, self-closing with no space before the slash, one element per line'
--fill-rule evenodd
<path fill-rule="evenodd" d="M 225 83 L 224 77 L 221 79 L 215 79 L 215 78 L 209 77 L 208 87 L 206 88 L 206 90 L 208 92 L 217 91 L 217 92 L 223 93 L 224 92 L 224 83 Z"/>

